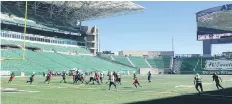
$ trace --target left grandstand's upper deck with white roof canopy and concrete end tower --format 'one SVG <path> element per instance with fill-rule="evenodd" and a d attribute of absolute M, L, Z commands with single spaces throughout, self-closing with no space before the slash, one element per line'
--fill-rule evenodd
<path fill-rule="evenodd" d="M 1 30 L 23 32 L 25 3 L 1 2 Z M 48 38 L 32 37 L 41 42 L 87 46 L 92 53 L 98 51 L 98 29 L 82 26 L 82 21 L 144 10 L 128 1 L 29 1 L 27 8 L 26 35 Z"/>

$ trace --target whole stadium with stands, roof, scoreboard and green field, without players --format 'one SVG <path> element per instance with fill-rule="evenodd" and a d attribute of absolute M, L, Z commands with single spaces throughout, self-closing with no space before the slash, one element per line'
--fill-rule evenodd
<path fill-rule="evenodd" d="M 227 104 L 232 101 L 232 54 L 211 55 L 211 45 L 232 43 L 231 10 L 232 4 L 226 4 L 196 13 L 203 54 L 136 50 L 115 54 L 100 52 L 99 29 L 82 22 L 140 13 L 144 7 L 129 1 L 2 1 L 2 103 Z M 76 71 L 90 81 L 93 72 L 100 73 L 105 82 L 109 72 L 116 72 L 122 75 L 122 85 L 120 81 L 117 90 L 108 90 L 105 83 L 75 84 Z M 148 72 L 155 83 L 148 83 Z M 202 96 L 192 84 L 196 73 L 203 76 L 207 87 Z M 215 91 L 214 73 L 222 75 L 223 92 Z M 27 84 L 32 75 L 33 84 Z M 131 85 L 133 75 L 142 88 Z M 48 76 L 51 82 L 47 83 Z"/>

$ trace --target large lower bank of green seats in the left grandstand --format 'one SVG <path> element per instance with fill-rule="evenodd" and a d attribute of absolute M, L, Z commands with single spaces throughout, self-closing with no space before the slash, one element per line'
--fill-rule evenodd
<path fill-rule="evenodd" d="M 6 43 L 6 41 L 4 42 Z M 22 56 L 21 49 L 7 48 L 1 50 L 2 58 L 18 58 Z M 102 60 L 89 55 L 68 55 L 55 52 L 25 51 L 25 60 L 2 60 L 1 69 L 17 72 L 21 71 L 26 75 L 32 72 L 42 74 L 47 70 L 63 71 L 78 68 L 84 72 L 91 71 L 127 71 L 138 72 L 137 69 Z"/>

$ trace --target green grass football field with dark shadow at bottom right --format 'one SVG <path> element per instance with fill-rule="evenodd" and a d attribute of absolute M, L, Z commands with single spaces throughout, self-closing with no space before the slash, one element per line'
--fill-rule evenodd
<path fill-rule="evenodd" d="M 199 97 L 199 95 L 191 94 L 196 93 L 193 77 L 194 75 L 153 75 L 152 82 L 148 83 L 147 76 L 138 76 L 143 88 L 135 88 L 132 84 L 132 75 L 123 76 L 122 85 L 117 84 L 118 91 L 115 90 L 114 86 L 108 90 L 109 85 L 105 83 L 107 76 L 105 76 L 102 85 L 96 83 L 95 85 L 72 84 L 71 77 L 67 77 L 67 83 L 60 83 L 62 79 L 60 76 L 52 77 L 50 84 L 43 83 L 45 77 L 36 76 L 34 83 L 30 85 L 26 83 L 28 77 L 16 77 L 11 83 L 7 83 L 9 77 L 2 77 L 1 98 L 2 104 L 136 104 L 139 101 L 158 101 L 160 99 L 168 101 L 170 100 L 168 98 L 185 96 L 184 99 L 191 98 L 192 101 L 188 100 L 188 104 L 192 104 Z M 216 90 L 212 76 L 202 75 L 201 77 L 204 91 Z M 89 77 L 86 78 L 89 80 Z M 232 76 L 224 75 L 221 78 L 223 79 L 221 84 L 224 88 L 232 87 Z M 223 97 L 221 97 L 222 95 Z M 200 98 L 210 98 L 212 103 L 214 99 L 231 102 L 232 91 L 216 94 L 205 93 Z M 151 102 L 144 102 L 144 104 L 148 103 Z"/>

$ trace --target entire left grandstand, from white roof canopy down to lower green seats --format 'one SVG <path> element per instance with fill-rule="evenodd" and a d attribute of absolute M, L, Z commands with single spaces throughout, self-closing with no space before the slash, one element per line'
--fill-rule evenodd
<path fill-rule="evenodd" d="M 98 29 L 82 26 L 81 22 L 137 12 L 143 7 L 124 1 L 29 1 L 24 31 L 25 3 L 1 2 L 1 70 L 17 75 L 77 68 L 86 72 L 138 72 L 134 67 L 92 56 L 90 52 L 95 50 L 92 52 L 88 46 L 96 46 Z M 87 46 L 90 52 L 82 46 Z"/>

